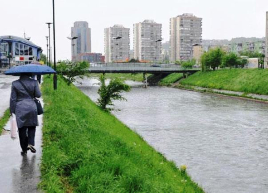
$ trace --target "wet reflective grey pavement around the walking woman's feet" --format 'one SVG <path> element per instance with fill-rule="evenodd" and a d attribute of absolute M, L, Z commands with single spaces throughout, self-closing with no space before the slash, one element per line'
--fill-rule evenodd
<path fill-rule="evenodd" d="M 38 116 L 39 126 L 36 127 L 36 153 L 28 151 L 21 156 L 19 139 L 12 140 L 10 133 L 0 136 L 0 192 L 39 192 L 37 184 L 40 181 L 40 163 L 42 156 L 42 115 Z M 7 123 L 5 129 L 9 129 Z"/>

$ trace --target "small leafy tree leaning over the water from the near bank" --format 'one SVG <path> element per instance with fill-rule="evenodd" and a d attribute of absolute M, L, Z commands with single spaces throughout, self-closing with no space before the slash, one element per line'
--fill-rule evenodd
<path fill-rule="evenodd" d="M 123 91 L 130 91 L 130 86 L 125 84 L 119 78 L 111 79 L 108 85 L 105 84 L 105 76 L 101 75 L 100 77 L 100 85 L 101 87 L 98 90 L 99 99 L 98 105 L 105 110 L 112 110 L 111 108 L 106 108 L 107 105 L 113 106 L 112 100 L 127 100 L 122 97 L 121 93 Z"/>

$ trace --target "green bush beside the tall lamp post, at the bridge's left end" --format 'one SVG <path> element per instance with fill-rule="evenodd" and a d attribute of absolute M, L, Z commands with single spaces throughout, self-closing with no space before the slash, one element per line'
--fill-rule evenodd
<path fill-rule="evenodd" d="M 60 61 L 57 66 L 57 72 L 64 78 L 68 85 L 74 82 L 80 83 L 77 78 L 83 79 L 88 75 L 89 63 L 70 62 L 68 60 Z"/>

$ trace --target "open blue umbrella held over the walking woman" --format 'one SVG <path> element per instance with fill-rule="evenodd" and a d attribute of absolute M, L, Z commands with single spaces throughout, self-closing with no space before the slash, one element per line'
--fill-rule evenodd
<path fill-rule="evenodd" d="M 5 75 L 20 76 L 25 73 L 32 75 L 46 75 L 57 73 L 54 69 L 46 65 L 39 64 L 26 64 L 21 66 L 15 66 L 4 72 Z"/>

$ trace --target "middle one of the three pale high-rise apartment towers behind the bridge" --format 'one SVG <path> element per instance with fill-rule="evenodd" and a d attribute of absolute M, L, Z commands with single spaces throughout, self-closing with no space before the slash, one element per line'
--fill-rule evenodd
<path fill-rule="evenodd" d="M 142 62 L 160 60 L 162 24 L 144 20 L 133 24 L 134 58 Z"/>

